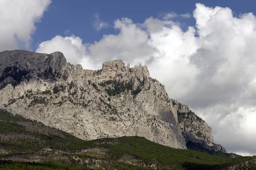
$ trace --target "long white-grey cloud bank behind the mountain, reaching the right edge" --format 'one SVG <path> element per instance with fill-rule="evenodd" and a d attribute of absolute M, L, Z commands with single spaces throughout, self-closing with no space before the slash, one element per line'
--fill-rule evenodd
<path fill-rule="evenodd" d="M 97 69 L 111 59 L 146 64 L 171 98 L 206 120 L 215 142 L 229 152 L 256 154 L 256 17 L 235 17 L 230 8 L 200 3 L 193 17 L 196 25 L 186 31 L 171 15 L 168 20 L 149 17 L 144 23 L 122 18 L 114 21 L 117 34 L 98 42 L 85 45 L 79 37 L 59 36 L 43 42 L 38 51 L 62 51 L 84 68 Z"/>

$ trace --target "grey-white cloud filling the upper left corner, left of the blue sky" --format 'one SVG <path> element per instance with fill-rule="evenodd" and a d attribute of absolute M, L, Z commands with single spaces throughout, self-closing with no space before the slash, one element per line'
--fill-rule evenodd
<path fill-rule="evenodd" d="M 0 51 L 29 49 L 35 23 L 40 22 L 51 0 L 0 1 Z"/>

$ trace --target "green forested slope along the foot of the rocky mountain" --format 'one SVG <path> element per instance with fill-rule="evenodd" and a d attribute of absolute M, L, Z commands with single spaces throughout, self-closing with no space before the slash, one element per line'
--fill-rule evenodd
<path fill-rule="evenodd" d="M 234 165 L 253 167 L 255 159 L 230 160 L 166 147 L 138 136 L 83 141 L 0 110 L 0 169 L 5 170 L 217 170 Z"/>

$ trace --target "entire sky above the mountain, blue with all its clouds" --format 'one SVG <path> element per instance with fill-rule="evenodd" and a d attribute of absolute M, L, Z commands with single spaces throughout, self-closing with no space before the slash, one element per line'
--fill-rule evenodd
<path fill-rule="evenodd" d="M 253 0 L 0 0 L 0 51 L 61 51 L 84 69 L 147 65 L 228 152 L 256 155 Z"/>

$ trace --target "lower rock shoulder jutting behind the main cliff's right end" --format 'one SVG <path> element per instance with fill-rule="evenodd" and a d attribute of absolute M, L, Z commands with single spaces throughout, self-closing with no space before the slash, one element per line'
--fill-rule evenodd
<path fill-rule="evenodd" d="M 214 143 L 212 128 L 204 120 L 193 113 L 187 105 L 173 99 L 172 104 L 177 111 L 180 129 L 186 143 L 192 142 L 207 150 L 227 153 L 223 146 Z"/>

